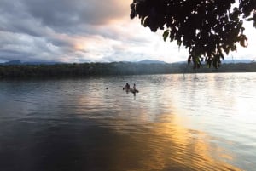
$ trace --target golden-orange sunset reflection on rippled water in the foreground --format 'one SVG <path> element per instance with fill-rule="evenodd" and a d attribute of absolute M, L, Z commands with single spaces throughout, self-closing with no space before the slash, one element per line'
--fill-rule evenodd
<path fill-rule="evenodd" d="M 235 156 L 216 143 L 218 138 L 184 128 L 177 115 L 164 114 L 154 123 L 141 125 L 137 121 L 108 122 L 130 142 L 117 146 L 122 148 L 119 159 L 136 163 L 131 170 L 241 170 L 229 164 Z M 106 127 L 106 123 L 102 125 Z M 116 165 L 122 163 L 119 159 Z"/>

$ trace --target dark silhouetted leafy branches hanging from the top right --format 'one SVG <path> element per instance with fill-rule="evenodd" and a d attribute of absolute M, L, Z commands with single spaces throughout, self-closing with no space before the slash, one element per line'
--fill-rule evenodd
<path fill-rule="evenodd" d="M 165 30 L 163 38 L 189 48 L 188 62 L 194 67 L 218 68 L 224 53 L 236 51 L 236 44 L 247 47 L 243 21 L 256 27 L 256 0 L 133 0 L 131 19 L 138 17 L 151 31 Z M 231 9 L 233 8 L 233 9 Z"/>

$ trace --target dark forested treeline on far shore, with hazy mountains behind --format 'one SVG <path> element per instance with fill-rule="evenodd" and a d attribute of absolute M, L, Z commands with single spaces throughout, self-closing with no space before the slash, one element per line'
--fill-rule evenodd
<path fill-rule="evenodd" d="M 26 77 L 86 77 L 108 75 L 256 72 L 256 63 L 229 63 L 218 69 L 203 66 L 193 69 L 192 64 L 138 64 L 132 62 L 82 63 L 55 65 L 0 65 L 0 79 Z"/>

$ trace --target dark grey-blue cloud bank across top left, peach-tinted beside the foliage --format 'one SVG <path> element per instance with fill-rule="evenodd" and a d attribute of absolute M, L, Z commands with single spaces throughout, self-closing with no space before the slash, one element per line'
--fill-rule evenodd
<path fill-rule="evenodd" d="M 1 30 L 33 36 L 44 34 L 39 26 L 73 33 L 89 31 L 86 26 L 108 24 L 126 16 L 124 11 L 129 9 L 118 0 L 1 0 L 0 5 Z"/>

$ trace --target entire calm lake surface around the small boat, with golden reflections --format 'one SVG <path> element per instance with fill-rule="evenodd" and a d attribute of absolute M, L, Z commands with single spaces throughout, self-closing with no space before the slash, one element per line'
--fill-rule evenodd
<path fill-rule="evenodd" d="M 255 170 L 255 88 L 256 73 L 1 81 L 0 170 Z"/>

